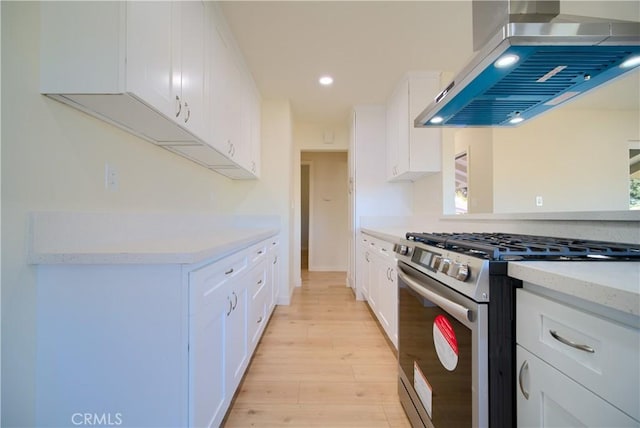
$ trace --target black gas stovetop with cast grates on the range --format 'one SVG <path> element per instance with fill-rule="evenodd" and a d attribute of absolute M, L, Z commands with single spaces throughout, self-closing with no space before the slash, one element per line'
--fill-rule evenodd
<path fill-rule="evenodd" d="M 638 260 L 640 245 L 509 233 L 407 233 L 420 242 L 485 260 Z"/>

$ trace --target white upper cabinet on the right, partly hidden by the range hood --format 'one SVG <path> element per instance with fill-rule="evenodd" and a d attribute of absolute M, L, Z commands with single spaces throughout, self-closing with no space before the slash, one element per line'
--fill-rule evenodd
<path fill-rule="evenodd" d="M 414 128 L 425 100 L 437 95 L 440 74 L 405 75 L 387 101 L 387 180 L 416 180 L 441 169 L 442 131 Z"/>

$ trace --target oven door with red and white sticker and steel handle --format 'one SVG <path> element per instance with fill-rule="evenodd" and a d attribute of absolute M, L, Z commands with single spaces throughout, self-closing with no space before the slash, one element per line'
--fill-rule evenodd
<path fill-rule="evenodd" d="M 412 425 L 488 426 L 487 305 L 398 262 L 399 393 Z"/>

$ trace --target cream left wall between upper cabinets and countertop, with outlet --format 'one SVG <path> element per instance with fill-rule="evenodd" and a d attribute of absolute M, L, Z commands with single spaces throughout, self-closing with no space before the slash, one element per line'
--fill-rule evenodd
<path fill-rule="evenodd" d="M 2 426 L 33 426 L 35 270 L 30 211 L 278 214 L 288 263 L 291 116 L 263 105 L 262 178 L 236 183 L 39 94 L 39 3 L 2 2 Z M 10 106 L 10 108 L 8 108 Z M 120 175 L 104 189 L 104 164 Z M 288 290 L 281 290 L 286 291 Z"/>

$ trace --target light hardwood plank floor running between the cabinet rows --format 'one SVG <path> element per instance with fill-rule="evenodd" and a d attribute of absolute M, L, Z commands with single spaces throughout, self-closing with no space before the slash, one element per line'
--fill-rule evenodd
<path fill-rule="evenodd" d="M 345 273 L 302 280 L 276 307 L 224 426 L 410 427 L 395 351 Z"/>

